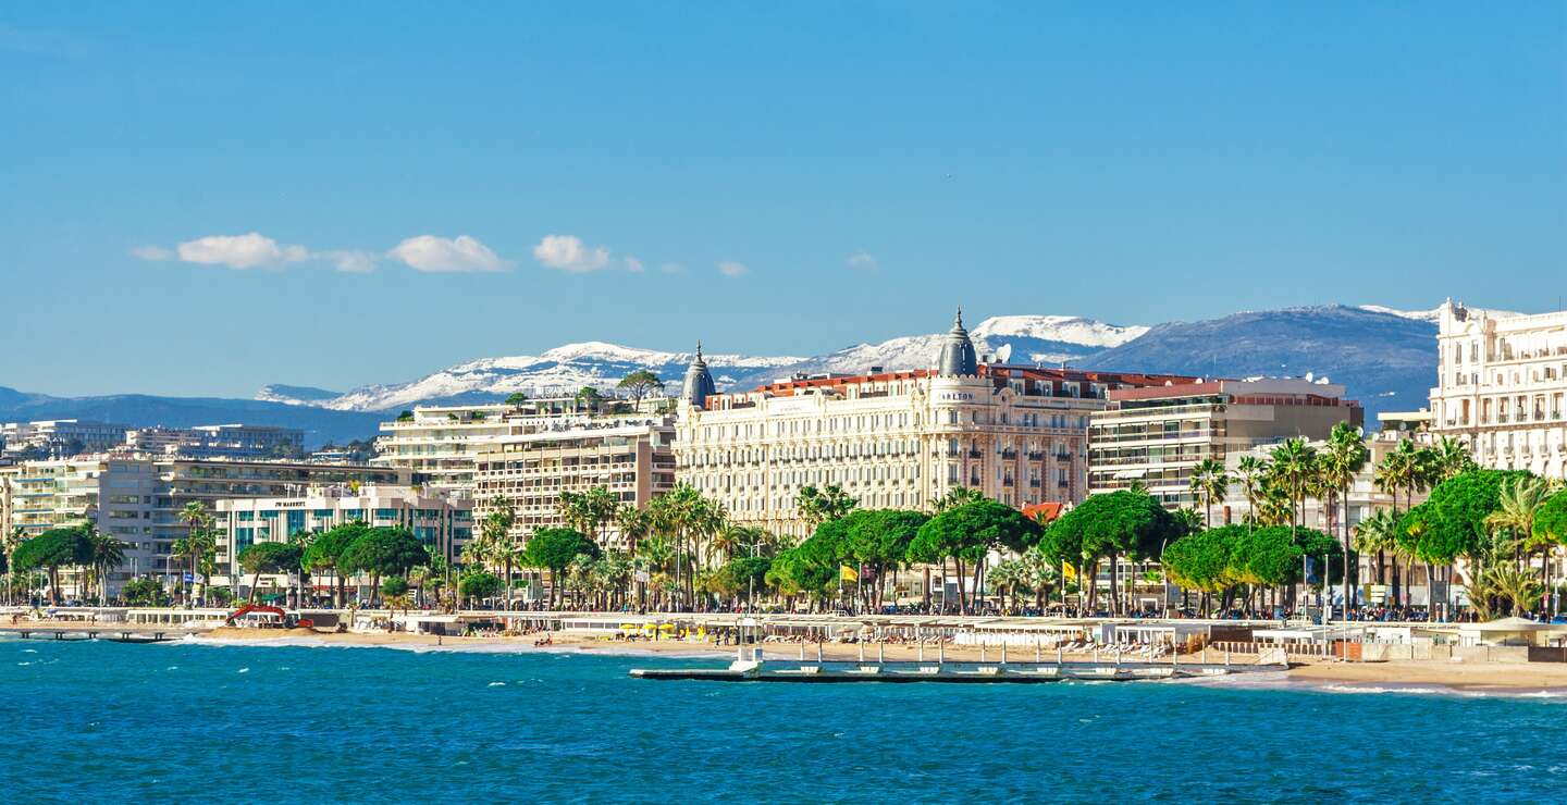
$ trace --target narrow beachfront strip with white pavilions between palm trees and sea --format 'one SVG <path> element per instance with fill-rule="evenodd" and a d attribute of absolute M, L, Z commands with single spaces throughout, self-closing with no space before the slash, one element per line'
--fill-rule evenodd
<path fill-rule="evenodd" d="M 226 625 L 227 609 L 186 608 L 0 608 L 0 631 L 17 628 L 207 633 Z M 320 634 L 390 633 L 442 637 L 525 637 L 548 633 L 567 641 L 730 645 L 741 623 L 747 641 L 782 650 L 793 644 L 1192 653 L 1203 648 L 1254 655 L 1280 648 L 1291 658 L 1421 659 L 1464 655 L 1468 648 L 1545 647 L 1567 639 L 1567 626 L 1512 623 L 1486 641 L 1486 625 L 1424 622 L 1335 622 L 1327 626 L 1283 620 L 1066 619 L 931 614 L 735 614 L 735 612 L 592 612 L 395 609 L 299 609 Z M 224 630 L 232 631 L 232 630 Z M 268 630 L 259 630 L 262 633 Z M 1526 639 L 1520 639 L 1526 636 Z M 1518 645 L 1506 645 L 1514 642 Z M 1484 652 L 1468 652 L 1470 655 Z M 1492 652 L 1493 653 L 1493 652 Z M 1523 658 L 1523 656 L 1520 656 Z"/>

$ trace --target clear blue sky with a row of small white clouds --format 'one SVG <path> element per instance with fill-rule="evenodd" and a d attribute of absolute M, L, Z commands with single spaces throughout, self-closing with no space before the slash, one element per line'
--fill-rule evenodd
<path fill-rule="evenodd" d="M 0 385 L 816 354 L 956 302 L 1550 309 L 1567 5 L 1486 11 L 9 3 Z"/>

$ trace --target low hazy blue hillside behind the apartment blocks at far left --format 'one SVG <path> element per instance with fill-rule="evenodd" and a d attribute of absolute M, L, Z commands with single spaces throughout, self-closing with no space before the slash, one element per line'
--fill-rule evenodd
<path fill-rule="evenodd" d="M 141 428 L 154 424 L 169 428 L 223 423 L 271 424 L 302 429 L 306 446 L 315 448 L 328 442 L 343 443 L 353 439 L 368 439 L 376 434 L 382 417 L 257 399 L 150 395 L 61 398 L 0 387 L 0 421 L 27 420 L 99 420 Z"/>

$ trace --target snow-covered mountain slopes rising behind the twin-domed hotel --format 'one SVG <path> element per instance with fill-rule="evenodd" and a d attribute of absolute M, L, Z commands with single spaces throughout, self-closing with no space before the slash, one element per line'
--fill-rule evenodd
<path fill-rule="evenodd" d="M 1078 316 L 997 316 L 973 329 L 981 354 L 1028 363 L 1059 363 L 1105 348 L 1119 346 L 1147 332 L 1147 327 L 1119 327 Z M 719 390 L 771 382 L 794 373 L 863 371 L 923 368 L 935 362 L 943 334 L 909 335 L 878 345 L 856 345 L 818 357 L 754 357 L 705 354 Z M 649 370 L 679 385 L 691 352 L 639 349 L 605 341 L 556 346 L 539 356 L 511 356 L 470 360 L 412 382 L 367 385 L 334 396 L 320 388 L 268 385 L 257 395 L 273 402 L 320 406 L 337 410 L 398 410 L 418 404 L 472 404 L 505 399 L 522 392 L 528 396 L 570 395 L 584 385 L 613 388 L 621 377 Z"/>

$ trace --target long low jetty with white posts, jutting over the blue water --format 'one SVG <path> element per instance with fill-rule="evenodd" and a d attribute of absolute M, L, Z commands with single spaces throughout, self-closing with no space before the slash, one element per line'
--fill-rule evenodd
<path fill-rule="evenodd" d="M 721 669 L 632 669 L 632 677 L 639 680 L 697 680 L 697 681 L 794 681 L 794 683 L 1047 683 L 1047 681 L 1136 681 L 1136 680 L 1175 680 L 1175 678 L 1211 678 L 1232 673 L 1266 673 L 1290 670 L 1282 652 L 1276 656 L 1263 656 L 1258 662 L 1230 662 L 1229 653 L 1222 662 L 1182 662 L 1178 655 L 1171 655 L 1167 661 L 1131 659 L 1124 661 L 1116 652 L 1108 656 L 1095 655 L 1094 659 L 1066 659 L 1056 650 L 1053 658 L 1047 658 L 1042 648 L 1033 652 L 1031 658 L 1019 658 L 1017 653 L 1008 658 L 1008 647 L 1003 644 L 1000 656 L 989 659 L 981 650 L 979 661 L 948 661 L 945 648 L 937 645 L 935 656 L 926 659 L 921 645 L 918 659 L 824 659 L 821 645 L 816 645 L 816 658 L 807 659 L 801 645 L 798 659 L 766 659 L 760 645 L 746 641 L 746 631 L 757 623 L 754 620 L 740 622 L 740 641 L 735 648 L 735 661 Z M 878 652 L 879 653 L 879 652 Z"/>

